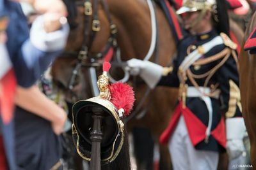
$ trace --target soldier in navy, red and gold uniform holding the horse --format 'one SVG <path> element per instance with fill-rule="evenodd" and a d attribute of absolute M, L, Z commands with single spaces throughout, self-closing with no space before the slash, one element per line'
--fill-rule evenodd
<path fill-rule="evenodd" d="M 225 148 L 230 160 L 243 153 L 246 132 L 227 9 L 221 1 L 186 0 L 177 14 L 182 15 L 189 35 L 180 41 L 173 66 L 138 59 L 127 64 L 151 88 L 180 88 L 179 104 L 160 138 L 168 143 L 173 169 L 217 169 L 219 153 Z M 225 113 L 226 129 L 221 113 Z"/>

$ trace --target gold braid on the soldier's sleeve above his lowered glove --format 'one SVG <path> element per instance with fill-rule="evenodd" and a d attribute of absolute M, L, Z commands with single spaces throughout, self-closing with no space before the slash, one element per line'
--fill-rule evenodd
<path fill-rule="evenodd" d="M 239 87 L 237 87 L 234 81 L 229 80 L 229 88 L 230 89 L 229 89 L 228 111 L 225 114 L 227 118 L 234 117 L 237 106 L 239 110 L 242 111 Z"/>

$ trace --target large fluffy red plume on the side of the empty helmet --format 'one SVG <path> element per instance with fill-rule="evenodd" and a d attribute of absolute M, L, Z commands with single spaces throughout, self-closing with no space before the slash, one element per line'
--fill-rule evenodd
<path fill-rule="evenodd" d="M 132 87 L 127 83 L 113 83 L 109 86 L 111 92 L 111 103 L 119 110 L 124 109 L 124 115 L 127 117 L 132 110 L 135 101 Z"/>

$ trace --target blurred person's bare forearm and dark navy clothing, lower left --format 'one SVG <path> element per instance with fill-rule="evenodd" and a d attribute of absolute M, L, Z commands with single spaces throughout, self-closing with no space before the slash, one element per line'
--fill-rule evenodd
<path fill-rule="evenodd" d="M 60 134 L 67 113 L 34 85 L 15 95 L 16 169 L 61 169 Z"/>

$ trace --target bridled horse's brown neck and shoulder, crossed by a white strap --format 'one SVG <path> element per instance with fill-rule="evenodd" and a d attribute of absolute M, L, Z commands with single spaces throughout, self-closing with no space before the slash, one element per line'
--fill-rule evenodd
<path fill-rule="evenodd" d="M 140 0 L 109 0 L 109 10 L 113 22 L 118 27 L 118 46 L 122 56 L 126 59 L 136 57 L 143 59 L 150 48 L 151 21 L 150 11 L 146 1 Z M 176 51 L 171 29 L 163 15 L 163 11 L 156 6 L 158 23 L 159 62 L 166 64 Z M 166 55 L 169 55 L 166 57 Z"/>

